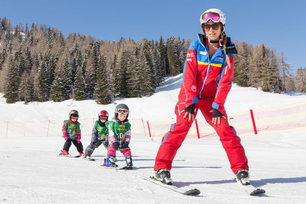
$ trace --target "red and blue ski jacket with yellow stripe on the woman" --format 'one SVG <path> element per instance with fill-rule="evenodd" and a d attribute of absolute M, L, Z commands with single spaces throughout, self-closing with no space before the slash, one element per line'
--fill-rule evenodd
<path fill-rule="evenodd" d="M 185 97 L 186 107 L 197 103 L 198 98 L 215 97 L 212 107 L 223 114 L 233 78 L 234 54 L 237 54 L 236 47 L 229 37 L 227 41 L 226 54 L 230 59 L 230 67 L 227 65 L 222 45 L 209 59 L 205 35 L 198 34 L 198 39 L 190 44 L 179 94 L 179 98 Z"/>

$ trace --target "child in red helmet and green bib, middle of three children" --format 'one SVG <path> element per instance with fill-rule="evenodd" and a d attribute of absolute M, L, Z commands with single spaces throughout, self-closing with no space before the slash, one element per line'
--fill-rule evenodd
<path fill-rule="evenodd" d="M 99 119 L 95 121 L 95 126 L 92 128 L 91 143 L 86 147 L 85 158 L 90 159 L 90 155 L 95 148 L 101 144 L 107 149 L 108 146 L 108 128 L 105 122 L 108 121 L 108 113 L 106 110 L 101 110 L 98 114 Z"/>

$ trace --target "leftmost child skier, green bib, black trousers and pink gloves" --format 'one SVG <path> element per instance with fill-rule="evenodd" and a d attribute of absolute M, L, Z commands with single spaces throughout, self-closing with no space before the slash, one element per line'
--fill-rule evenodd
<path fill-rule="evenodd" d="M 79 119 L 79 112 L 71 110 L 69 112 L 69 119 L 64 121 L 62 132 L 65 139 L 63 151 L 60 155 L 69 155 L 68 151 L 71 146 L 71 142 L 76 146 L 76 150 L 80 156 L 84 156 L 83 145 L 81 143 L 81 129 Z"/>

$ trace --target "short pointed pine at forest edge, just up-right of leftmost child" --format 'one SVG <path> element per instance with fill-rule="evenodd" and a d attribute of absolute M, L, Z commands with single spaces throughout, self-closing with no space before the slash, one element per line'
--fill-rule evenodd
<path fill-rule="evenodd" d="M 73 87 L 73 98 L 76 101 L 85 100 L 87 98 L 87 87 L 81 67 L 77 67 L 76 69 L 76 76 Z"/>

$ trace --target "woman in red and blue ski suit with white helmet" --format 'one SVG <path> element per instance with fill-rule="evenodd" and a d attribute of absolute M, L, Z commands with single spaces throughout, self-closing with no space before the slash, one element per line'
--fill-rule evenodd
<path fill-rule="evenodd" d="M 170 185 L 173 159 L 199 110 L 219 135 L 233 173 L 241 170 L 248 178 L 244 148 L 235 129 L 229 125 L 224 109 L 237 50 L 224 32 L 225 14 L 222 11 L 209 9 L 201 15 L 200 21 L 204 35 L 198 34 L 198 39 L 189 46 L 183 83 L 175 106 L 177 122 L 162 138 L 155 159 L 155 179 Z"/>

